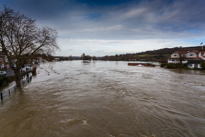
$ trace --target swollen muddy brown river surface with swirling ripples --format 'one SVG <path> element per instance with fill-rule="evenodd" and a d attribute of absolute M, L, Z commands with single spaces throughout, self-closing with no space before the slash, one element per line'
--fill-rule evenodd
<path fill-rule="evenodd" d="M 0 104 L 0 137 L 204 137 L 205 72 L 41 64 Z"/>

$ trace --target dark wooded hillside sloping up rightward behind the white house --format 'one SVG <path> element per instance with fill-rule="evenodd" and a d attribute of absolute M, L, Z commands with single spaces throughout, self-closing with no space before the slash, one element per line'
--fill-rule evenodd
<path fill-rule="evenodd" d="M 174 48 L 163 48 L 158 50 L 150 50 L 139 53 L 126 53 L 126 54 L 116 54 L 112 56 L 103 56 L 101 60 L 110 61 L 160 61 L 165 62 L 170 58 L 171 54 L 175 51 L 192 51 L 201 50 L 201 46 L 195 47 L 174 47 Z"/>

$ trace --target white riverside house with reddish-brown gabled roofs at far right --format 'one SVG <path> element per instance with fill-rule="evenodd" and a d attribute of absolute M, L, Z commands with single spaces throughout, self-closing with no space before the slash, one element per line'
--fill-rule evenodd
<path fill-rule="evenodd" d="M 168 63 L 180 63 L 180 60 L 183 64 L 187 64 L 188 68 L 201 69 L 201 63 L 205 62 L 205 51 L 175 51 L 168 59 Z"/>

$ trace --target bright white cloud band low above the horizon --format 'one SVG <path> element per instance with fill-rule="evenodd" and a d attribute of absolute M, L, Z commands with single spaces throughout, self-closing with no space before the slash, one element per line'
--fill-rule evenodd
<path fill-rule="evenodd" d="M 94 39 L 61 39 L 61 52 L 56 55 L 80 56 L 82 53 L 91 56 L 105 56 L 125 53 L 136 53 L 159 48 L 191 46 L 178 40 L 141 39 L 141 40 L 94 40 Z M 69 50 L 72 49 L 72 50 Z"/>

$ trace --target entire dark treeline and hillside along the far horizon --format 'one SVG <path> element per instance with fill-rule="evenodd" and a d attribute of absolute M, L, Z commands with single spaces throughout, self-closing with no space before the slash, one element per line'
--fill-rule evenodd
<path fill-rule="evenodd" d="M 139 53 L 126 53 L 126 54 L 116 54 L 111 56 L 103 56 L 96 57 L 90 56 L 83 53 L 81 56 L 55 56 L 54 58 L 58 58 L 60 61 L 63 60 L 109 60 L 109 61 L 160 61 L 167 62 L 170 58 L 171 54 L 175 51 L 192 51 L 192 50 L 201 50 L 201 46 L 193 46 L 193 47 L 174 47 L 174 48 L 163 48 L 158 50 L 149 50 Z M 205 47 L 204 47 L 205 49 Z"/>

